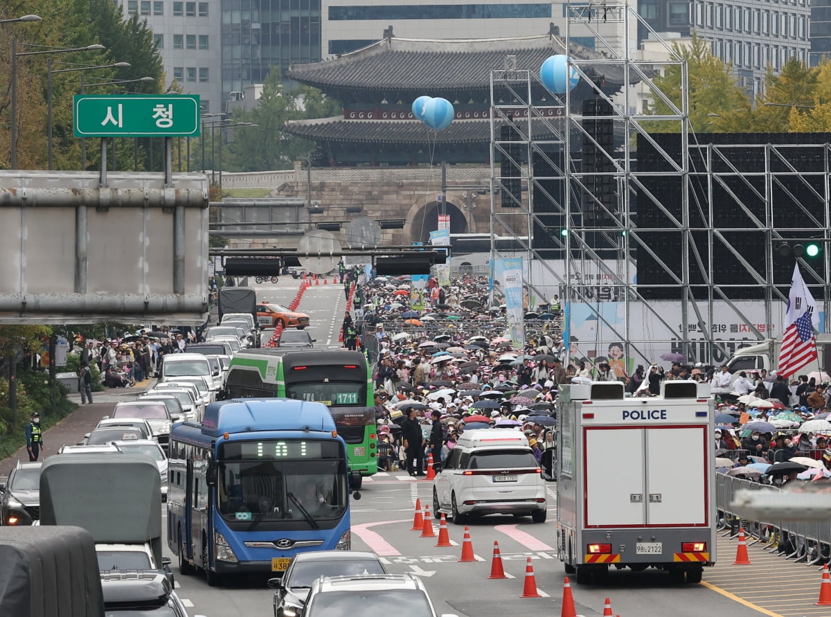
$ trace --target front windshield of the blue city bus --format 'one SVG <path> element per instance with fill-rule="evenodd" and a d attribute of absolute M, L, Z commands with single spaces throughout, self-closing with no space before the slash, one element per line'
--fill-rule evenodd
<path fill-rule="evenodd" d="M 219 513 L 228 521 L 337 519 L 347 509 L 341 461 L 219 462 Z"/>

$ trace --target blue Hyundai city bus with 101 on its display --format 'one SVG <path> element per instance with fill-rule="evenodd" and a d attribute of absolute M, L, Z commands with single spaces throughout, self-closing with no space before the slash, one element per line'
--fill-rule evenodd
<path fill-rule="evenodd" d="M 282 575 L 298 552 L 351 547 L 346 444 L 320 402 L 214 402 L 201 423 L 174 425 L 169 459 L 167 538 L 183 575 Z"/>

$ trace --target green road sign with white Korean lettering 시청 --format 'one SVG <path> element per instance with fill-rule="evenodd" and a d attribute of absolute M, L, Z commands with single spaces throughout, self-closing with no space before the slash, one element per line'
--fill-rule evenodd
<path fill-rule="evenodd" d="M 76 137 L 197 137 L 199 96 L 76 94 Z"/>

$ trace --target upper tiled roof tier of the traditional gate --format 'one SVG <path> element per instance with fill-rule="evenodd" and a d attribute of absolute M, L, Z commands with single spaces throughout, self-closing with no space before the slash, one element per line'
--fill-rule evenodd
<path fill-rule="evenodd" d="M 411 90 L 425 94 L 443 90 L 487 90 L 490 72 L 516 57 L 518 70 L 538 72 L 543 61 L 563 53 L 562 39 L 554 36 L 489 40 L 427 40 L 384 38 L 342 57 L 310 64 L 293 64 L 288 77 L 310 86 L 360 90 Z M 597 52 L 573 44 L 571 55 L 602 59 Z M 622 85 L 619 65 L 598 64 L 607 83 Z"/>

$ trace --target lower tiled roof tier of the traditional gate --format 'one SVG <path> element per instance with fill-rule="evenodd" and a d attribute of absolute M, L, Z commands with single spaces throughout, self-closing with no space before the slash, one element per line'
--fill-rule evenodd
<path fill-rule="evenodd" d="M 538 123 L 537 139 L 551 138 L 545 124 Z M 357 143 L 489 143 L 489 120 L 456 120 L 444 131 L 430 131 L 417 120 L 345 120 L 343 116 L 289 121 L 283 131 L 315 141 Z"/>

